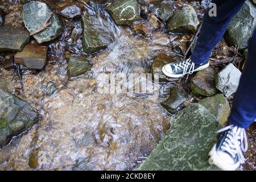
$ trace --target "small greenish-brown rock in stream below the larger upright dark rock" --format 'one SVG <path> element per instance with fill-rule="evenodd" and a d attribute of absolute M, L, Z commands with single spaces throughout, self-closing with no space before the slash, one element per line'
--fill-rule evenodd
<path fill-rule="evenodd" d="M 69 78 L 80 76 L 90 70 L 89 61 L 84 57 L 67 57 Z"/>

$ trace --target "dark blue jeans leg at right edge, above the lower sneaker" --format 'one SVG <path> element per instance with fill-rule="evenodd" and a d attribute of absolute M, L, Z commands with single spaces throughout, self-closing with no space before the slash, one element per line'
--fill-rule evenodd
<path fill-rule="evenodd" d="M 256 29 L 249 40 L 249 56 L 234 95 L 230 124 L 247 129 L 256 118 Z"/>

